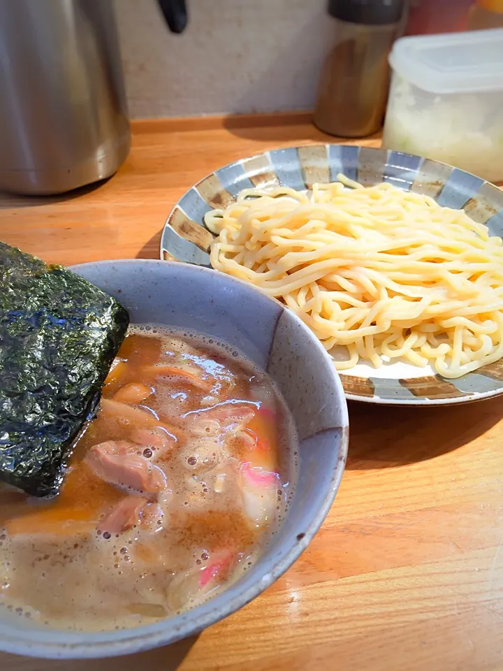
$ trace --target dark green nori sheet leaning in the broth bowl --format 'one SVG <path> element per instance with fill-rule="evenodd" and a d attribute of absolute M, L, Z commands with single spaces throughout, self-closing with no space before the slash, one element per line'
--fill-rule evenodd
<path fill-rule="evenodd" d="M 101 289 L 0 242 L 0 479 L 54 496 L 129 315 Z"/>

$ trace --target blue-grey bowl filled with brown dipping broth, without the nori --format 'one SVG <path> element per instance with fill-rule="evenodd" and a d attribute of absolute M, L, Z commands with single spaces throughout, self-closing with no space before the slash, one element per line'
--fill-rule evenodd
<path fill-rule="evenodd" d="M 72 270 L 131 324 L 59 496 L 19 493 L 0 523 L 0 649 L 50 658 L 161 646 L 248 603 L 323 522 L 348 437 L 328 354 L 278 301 L 166 261 Z"/>

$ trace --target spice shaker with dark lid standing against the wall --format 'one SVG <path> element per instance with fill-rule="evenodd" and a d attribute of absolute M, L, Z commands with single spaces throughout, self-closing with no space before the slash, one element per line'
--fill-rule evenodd
<path fill-rule="evenodd" d="M 383 122 L 388 53 L 402 28 L 404 0 L 329 0 L 336 44 L 323 64 L 314 124 L 325 133 L 359 138 Z"/>

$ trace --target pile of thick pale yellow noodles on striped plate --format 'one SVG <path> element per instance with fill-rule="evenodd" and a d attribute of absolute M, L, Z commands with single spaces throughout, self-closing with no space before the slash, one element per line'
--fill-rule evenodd
<path fill-rule="evenodd" d="M 337 179 L 208 212 L 212 266 L 286 303 L 329 352 L 347 347 L 339 370 L 384 357 L 460 377 L 500 359 L 502 240 L 429 196 Z"/>

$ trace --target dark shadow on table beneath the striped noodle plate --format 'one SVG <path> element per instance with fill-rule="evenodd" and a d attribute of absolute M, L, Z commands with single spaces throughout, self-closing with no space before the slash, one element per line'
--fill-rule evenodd
<path fill-rule="evenodd" d="M 503 417 L 503 401 L 399 407 L 349 401 L 347 468 L 393 468 L 466 445 Z"/>

